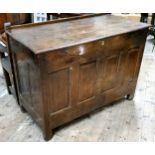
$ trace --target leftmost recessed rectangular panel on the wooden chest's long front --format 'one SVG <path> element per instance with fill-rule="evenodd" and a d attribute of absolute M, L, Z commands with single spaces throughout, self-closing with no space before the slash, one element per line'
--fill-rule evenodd
<path fill-rule="evenodd" d="M 50 74 L 50 112 L 56 112 L 69 105 L 69 69 Z"/>

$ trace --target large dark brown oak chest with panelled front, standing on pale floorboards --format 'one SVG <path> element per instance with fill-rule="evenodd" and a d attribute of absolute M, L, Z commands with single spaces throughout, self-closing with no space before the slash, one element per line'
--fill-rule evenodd
<path fill-rule="evenodd" d="M 6 27 L 20 106 L 45 140 L 62 124 L 133 98 L 148 27 L 103 14 Z"/>

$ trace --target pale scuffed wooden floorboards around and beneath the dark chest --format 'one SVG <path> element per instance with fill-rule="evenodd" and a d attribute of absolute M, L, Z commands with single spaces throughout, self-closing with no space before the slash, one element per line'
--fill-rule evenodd
<path fill-rule="evenodd" d="M 121 100 L 55 130 L 55 141 L 155 141 L 155 51 L 149 37 L 133 101 Z M 44 141 L 7 94 L 0 67 L 0 141 Z"/>

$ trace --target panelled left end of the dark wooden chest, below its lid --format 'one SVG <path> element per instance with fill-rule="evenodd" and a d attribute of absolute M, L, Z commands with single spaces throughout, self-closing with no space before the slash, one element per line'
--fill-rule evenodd
<path fill-rule="evenodd" d="M 20 105 L 43 127 L 40 71 L 37 59 L 23 45 L 9 38 Z"/>

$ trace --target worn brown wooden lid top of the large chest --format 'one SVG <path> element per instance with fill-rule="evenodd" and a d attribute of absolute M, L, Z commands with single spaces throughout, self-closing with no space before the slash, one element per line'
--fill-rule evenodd
<path fill-rule="evenodd" d="M 47 22 L 29 25 L 31 26 L 16 26 L 8 33 L 35 54 L 148 27 L 148 24 L 113 15 L 98 15 L 53 24 Z"/>

